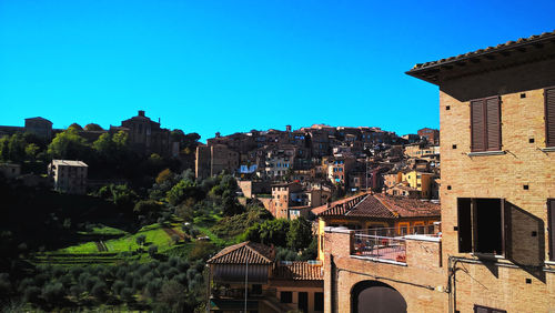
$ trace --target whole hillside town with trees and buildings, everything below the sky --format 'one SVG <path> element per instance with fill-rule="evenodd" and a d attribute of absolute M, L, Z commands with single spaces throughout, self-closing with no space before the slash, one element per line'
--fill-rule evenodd
<path fill-rule="evenodd" d="M 440 129 L 1 125 L 0 309 L 553 312 L 555 31 L 405 74 Z"/>

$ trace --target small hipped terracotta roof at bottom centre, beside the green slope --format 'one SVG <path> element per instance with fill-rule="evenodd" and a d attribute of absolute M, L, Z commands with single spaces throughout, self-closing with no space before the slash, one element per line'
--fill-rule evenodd
<path fill-rule="evenodd" d="M 209 264 L 272 264 L 272 249 L 268 245 L 245 241 L 234 245 L 230 245 L 218 252 L 206 263 Z"/>

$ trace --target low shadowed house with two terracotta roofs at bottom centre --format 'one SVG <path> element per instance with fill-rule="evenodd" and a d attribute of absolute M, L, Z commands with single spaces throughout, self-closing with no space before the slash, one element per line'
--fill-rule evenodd
<path fill-rule="evenodd" d="M 242 242 L 223 249 L 206 264 L 210 312 L 239 313 L 245 305 L 249 312 L 324 311 L 320 262 L 276 262 L 272 248 Z"/>

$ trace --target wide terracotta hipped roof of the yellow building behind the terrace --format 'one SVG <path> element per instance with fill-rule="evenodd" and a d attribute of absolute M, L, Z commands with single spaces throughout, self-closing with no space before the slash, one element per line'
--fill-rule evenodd
<path fill-rule="evenodd" d="M 428 201 L 384 194 L 367 194 L 356 198 L 355 201 L 332 205 L 317 215 L 397 219 L 438 216 L 440 214 L 441 206 Z"/>

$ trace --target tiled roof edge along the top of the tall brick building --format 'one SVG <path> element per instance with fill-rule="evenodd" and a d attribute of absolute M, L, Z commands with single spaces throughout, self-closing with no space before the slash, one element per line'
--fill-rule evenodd
<path fill-rule="evenodd" d="M 507 41 L 505 43 L 500 43 L 495 47 L 487 47 L 485 49 L 480 49 L 480 50 L 467 52 L 464 54 L 458 54 L 456 57 L 441 59 L 441 60 L 432 61 L 432 62 L 418 63 L 418 64 L 415 64 L 407 73 L 411 73 L 411 72 L 417 71 L 417 70 L 422 70 L 422 69 L 434 68 L 434 67 L 441 65 L 441 64 L 457 62 L 457 61 L 474 58 L 474 57 L 481 57 L 481 55 L 485 55 L 485 54 L 490 54 L 490 53 L 494 53 L 494 52 L 500 52 L 500 51 L 507 50 L 507 49 L 516 49 L 516 48 L 519 48 L 522 46 L 539 43 L 542 41 L 548 41 L 548 40 L 552 40 L 554 38 L 555 38 L 555 30 L 552 32 L 544 32 L 542 34 L 534 34 L 534 36 L 531 36 L 528 38 L 519 38 L 516 41 Z"/>

